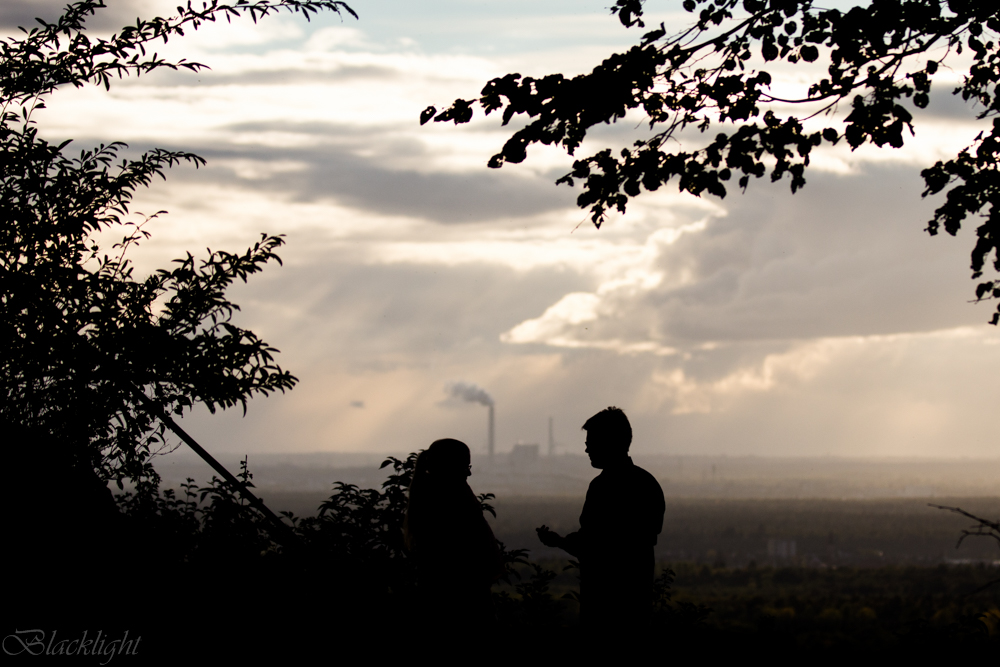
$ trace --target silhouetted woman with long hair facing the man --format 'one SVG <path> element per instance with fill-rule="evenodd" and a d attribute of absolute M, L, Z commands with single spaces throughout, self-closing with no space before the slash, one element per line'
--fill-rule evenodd
<path fill-rule="evenodd" d="M 417 457 L 403 530 L 417 566 L 425 623 L 482 627 L 495 620 L 490 586 L 500 550 L 469 484 L 469 448 L 436 440 Z"/>

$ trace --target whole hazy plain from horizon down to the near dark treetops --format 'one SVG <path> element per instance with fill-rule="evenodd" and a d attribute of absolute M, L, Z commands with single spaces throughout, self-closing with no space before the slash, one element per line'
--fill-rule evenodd
<path fill-rule="evenodd" d="M 403 456 L 402 453 L 399 456 Z M 383 455 L 256 455 L 254 484 L 275 511 L 316 513 L 341 481 L 379 488 Z M 1000 460 L 848 459 L 727 456 L 636 457 L 667 498 L 659 560 L 747 567 L 938 565 L 993 563 L 988 540 L 955 544 L 969 521 L 929 506 L 958 505 L 1000 516 Z M 237 460 L 224 460 L 238 469 Z M 204 463 L 178 451 L 161 457 L 164 486 L 204 481 Z M 583 454 L 540 455 L 533 447 L 473 459 L 470 484 L 493 493 L 497 537 L 532 559 L 561 558 L 543 547 L 535 527 L 577 527 L 587 485 L 597 473 Z"/>

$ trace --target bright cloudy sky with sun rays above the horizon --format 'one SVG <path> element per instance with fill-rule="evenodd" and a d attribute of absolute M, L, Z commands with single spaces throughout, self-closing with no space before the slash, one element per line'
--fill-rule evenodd
<path fill-rule="evenodd" d="M 8 0 L 0 29 L 63 4 Z M 109 4 L 98 34 L 176 2 Z M 185 428 L 230 454 L 441 437 L 482 452 L 486 408 L 452 391 L 465 383 L 495 401 L 498 451 L 544 445 L 551 417 L 560 451 L 582 452 L 580 426 L 617 405 L 641 454 L 1000 456 L 1000 332 L 993 304 L 970 303 L 974 229 L 923 231 L 939 200 L 921 199 L 920 170 L 981 129 L 949 95 L 960 70 L 942 70 L 902 150 L 826 149 L 794 196 L 787 180 L 725 199 L 668 186 L 597 230 L 579 190 L 554 184 L 571 157 L 533 148 L 487 169 L 511 131 L 499 119 L 419 115 L 494 76 L 577 74 L 628 48 L 641 33 L 607 4 L 367 0 L 358 20 L 205 25 L 157 51 L 211 70 L 51 98 L 37 119 L 52 141 L 208 160 L 139 193 L 135 211 L 169 212 L 131 255 L 140 273 L 285 235 L 284 265 L 230 297 L 298 386 Z M 679 7 L 650 0 L 648 23 L 683 27 Z M 780 92 L 817 75 L 770 70 Z M 643 131 L 640 116 L 599 128 L 579 155 Z"/>

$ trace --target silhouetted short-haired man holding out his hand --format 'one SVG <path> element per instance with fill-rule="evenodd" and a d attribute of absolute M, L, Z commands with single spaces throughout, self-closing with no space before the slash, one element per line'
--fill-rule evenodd
<path fill-rule="evenodd" d="M 610 407 L 583 425 L 590 464 L 601 469 L 587 490 L 580 530 L 566 537 L 546 526 L 543 544 L 580 562 L 580 616 L 601 630 L 638 629 L 648 622 L 653 584 L 653 545 L 663 528 L 663 490 L 628 455 L 632 426 Z"/>

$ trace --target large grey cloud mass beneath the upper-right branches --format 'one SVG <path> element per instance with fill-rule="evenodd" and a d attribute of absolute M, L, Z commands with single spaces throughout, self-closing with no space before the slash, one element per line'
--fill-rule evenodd
<path fill-rule="evenodd" d="M 970 306 L 973 235 L 929 237 L 933 202 L 910 167 L 813 173 L 802 192 L 753 184 L 729 215 L 660 258 L 695 278 L 644 308 L 671 341 L 781 340 L 930 331 L 979 324 Z"/>

